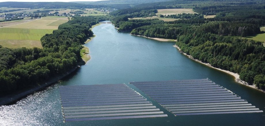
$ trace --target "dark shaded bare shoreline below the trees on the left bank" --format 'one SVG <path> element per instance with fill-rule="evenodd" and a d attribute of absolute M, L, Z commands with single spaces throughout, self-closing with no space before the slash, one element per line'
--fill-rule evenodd
<path fill-rule="evenodd" d="M 72 68 L 71 70 L 67 71 L 65 74 L 52 77 L 52 79 L 49 79 L 45 82 L 42 82 L 37 87 L 31 88 L 31 89 L 26 89 L 24 91 L 22 90 L 19 93 L 14 93 L 11 95 L 3 96 L 2 98 L 0 98 L 0 100 L 1 100 L 0 106 L 12 104 L 12 103 L 16 104 L 15 103 L 16 101 L 21 100 L 22 98 L 25 98 L 26 96 L 34 93 L 35 91 L 40 91 L 45 87 L 53 85 L 54 83 L 58 82 L 59 80 L 63 79 L 64 77 L 67 77 L 68 75 L 73 73 L 79 67 L 80 66 L 76 66 L 76 67 Z"/>

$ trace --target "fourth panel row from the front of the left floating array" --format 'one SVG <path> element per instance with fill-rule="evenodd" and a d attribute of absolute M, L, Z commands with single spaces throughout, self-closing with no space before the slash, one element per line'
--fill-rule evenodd
<path fill-rule="evenodd" d="M 124 109 L 143 109 L 156 108 L 156 106 L 137 106 L 137 107 L 117 107 L 117 108 L 89 108 L 89 109 L 66 109 L 63 112 L 78 112 L 78 111 L 103 111 L 103 110 L 124 110 Z"/>

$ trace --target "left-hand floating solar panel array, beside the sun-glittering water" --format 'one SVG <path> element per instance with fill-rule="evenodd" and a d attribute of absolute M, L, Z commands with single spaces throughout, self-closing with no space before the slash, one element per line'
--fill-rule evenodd
<path fill-rule="evenodd" d="M 167 117 L 125 84 L 60 86 L 65 121 Z"/>

